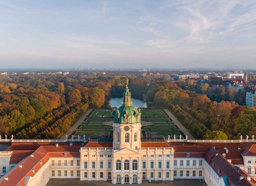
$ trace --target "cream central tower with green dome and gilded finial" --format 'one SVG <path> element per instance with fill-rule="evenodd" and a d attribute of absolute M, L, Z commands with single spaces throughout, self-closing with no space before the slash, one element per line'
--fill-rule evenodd
<path fill-rule="evenodd" d="M 113 112 L 113 147 L 138 149 L 140 148 L 141 111 L 132 106 L 128 79 L 123 96 L 122 106 Z"/>

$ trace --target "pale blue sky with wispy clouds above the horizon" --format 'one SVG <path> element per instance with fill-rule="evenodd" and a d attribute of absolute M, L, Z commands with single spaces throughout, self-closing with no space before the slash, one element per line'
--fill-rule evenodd
<path fill-rule="evenodd" d="M 256 68 L 255 0 L 0 0 L 0 68 Z"/>

